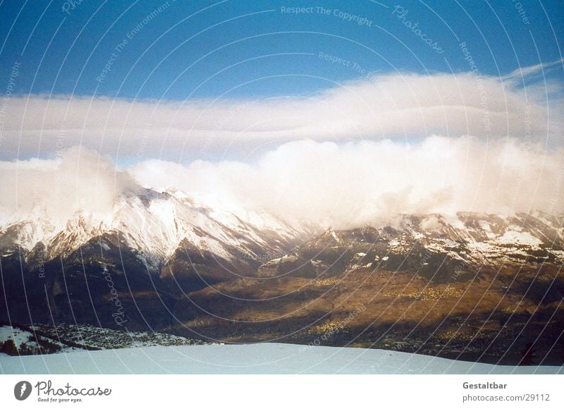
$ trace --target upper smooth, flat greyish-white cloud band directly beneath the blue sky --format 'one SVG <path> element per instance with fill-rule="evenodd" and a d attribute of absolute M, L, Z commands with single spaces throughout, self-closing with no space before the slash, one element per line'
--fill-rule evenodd
<path fill-rule="evenodd" d="M 560 85 L 522 87 L 474 73 L 372 75 L 304 97 L 186 102 L 105 97 L 12 97 L 6 103 L 4 157 L 40 156 L 81 145 L 102 154 L 184 160 L 231 155 L 264 144 L 324 140 L 520 138 L 562 145 Z M 517 75 L 519 74 L 519 75 Z M 522 81 L 521 81 L 522 82 Z"/>

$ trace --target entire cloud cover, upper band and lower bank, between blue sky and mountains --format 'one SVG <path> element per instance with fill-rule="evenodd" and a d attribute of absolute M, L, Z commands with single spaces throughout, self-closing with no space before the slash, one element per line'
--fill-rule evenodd
<path fill-rule="evenodd" d="M 512 75 L 386 74 L 254 101 L 13 97 L 1 155 L 57 159 L 0 162 L 0 222 L 104 217 L 135 183 L 335 227 L 397 213 L 563 212 L 564 110 L 550 97 L 561 85 L 519 88 Z M 137 164 L 116 170 L 99 155 Z M 216 159 L 192 160 L 202 157 Z"/>

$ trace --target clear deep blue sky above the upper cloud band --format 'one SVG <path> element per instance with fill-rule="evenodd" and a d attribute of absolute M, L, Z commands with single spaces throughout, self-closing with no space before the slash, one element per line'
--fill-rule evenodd
<path fill-rule="evenodd" d="M 361 76 L 320 59 L 319 52 L 367 72 L 460 72 L 469 70 L 459 47 L 466 42 L 482 73 L 504 75 L 561 59 L 564 37 L 564 2 L 556 0 L 522 1 L 522 8 L 511 0 L 169 0 L 154 18 L 147 16 L 164 0 L 76 3 L 74 8 L 61 0 L 1 3 L 2 88 L 18 62 L 17 94 L 156 99 L 304 94 Z M 441 54 L 393 14 L 396 4 L 408 11 L 403 22 L 419 23 Z M 318 6 L 331 12 L 320 13 Z M 283 7 L 313 10 L 295 16 L 282 13 Z M 371 24 L 343 20 L 334 10 Z M 116 53 L 124 39 L 128 43 Z M 112 53 L 111 69 L 97 80 Z"/>

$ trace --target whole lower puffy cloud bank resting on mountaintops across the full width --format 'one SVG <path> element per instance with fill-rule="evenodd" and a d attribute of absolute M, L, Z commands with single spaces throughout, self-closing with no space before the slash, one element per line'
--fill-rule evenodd
<path fill-rule="evenodd" d="M 75 148 L 56 160 L 0 162 L 0 180 L 2 220 L 16 212 L 64 219 L 77 209 L 102 217 L 135 183 L 336 228 L 377 224 L 398 213 L 564 211 L 564 149 L 517 139 L 299 140 L 254 164 L 152 159 L 118 170 Z"/>

